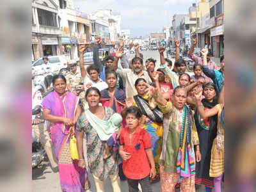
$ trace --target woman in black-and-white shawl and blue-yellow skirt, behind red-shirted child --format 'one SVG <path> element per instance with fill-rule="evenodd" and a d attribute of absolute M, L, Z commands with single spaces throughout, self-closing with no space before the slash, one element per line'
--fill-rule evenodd
<path fill-rule="evenodd" d="M 135 82 L 135 87 L 138 95 L 133 98 L 129 97 L 126 100 L 126 106 L 123 113 L 127 108 L 136 106 L 143 113 L 143 122 L 141 127 L 145 129 L 150 135 L 151 146 L 156 166 L 156 177 L 150 179 L 150 182 L 156 182 L 160 179 L 159 172 L 159 157 L 161 154 L 162 147 L 162 136 L 163 136 L 163 113 L 154 104 L 154 99 L 150 99 L 147 94 L 147 88 L 149 87 L 145 79 L 139 78 Z M 149 92 L 148 92 L 149 93 Z"/>

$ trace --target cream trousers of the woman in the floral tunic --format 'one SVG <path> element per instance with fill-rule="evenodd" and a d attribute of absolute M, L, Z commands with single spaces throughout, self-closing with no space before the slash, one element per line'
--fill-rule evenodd
<path fill-rule="evenodd" d="M 93 175 L 93 178 L 95 180 L 97 192 L 104 192 L 104 180 L 100 180 L 95 175 Z M 114 175 L 109 175 L 109 178 L 113 186 L 113 192 L 121 192 L 121 184 L 120 179 L 118 177 L 118 172 L 116 172 Z"/>

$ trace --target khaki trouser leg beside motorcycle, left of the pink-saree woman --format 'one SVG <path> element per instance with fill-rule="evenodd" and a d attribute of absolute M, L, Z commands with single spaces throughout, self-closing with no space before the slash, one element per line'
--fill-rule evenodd
<path fill-rule="evenodd" d="M 56 168 L 58 163 L 54 152 L 54 147 L 52 146 L 52 141 L 45 124 L 32 125 L 32 131 L 35 132 L 36 138 L 39 138 L 40 143 L 44 147 L 52 168 Z"/>

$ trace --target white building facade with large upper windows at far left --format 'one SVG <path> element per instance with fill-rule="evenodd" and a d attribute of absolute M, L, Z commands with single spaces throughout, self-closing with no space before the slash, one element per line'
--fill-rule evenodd
<path fill-rule="evenodd" d="M 52 0 L 32 1 L 32 60 L 61 54 L 59 6 Z"/>

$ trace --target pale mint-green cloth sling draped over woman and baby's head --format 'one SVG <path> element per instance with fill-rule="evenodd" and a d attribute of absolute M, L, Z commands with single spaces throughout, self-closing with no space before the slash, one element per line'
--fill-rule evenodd
<path fill-rule="evenodd" d="M 123 120 L 119 113 L 111 115 L 108 121 L 100 119 L 94 115 L 90 109 L 86 110 L 84 113 L 102 141 L 107 141 L 114 132 L 118 131 Z"/>

